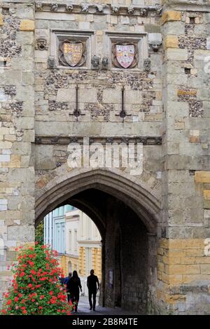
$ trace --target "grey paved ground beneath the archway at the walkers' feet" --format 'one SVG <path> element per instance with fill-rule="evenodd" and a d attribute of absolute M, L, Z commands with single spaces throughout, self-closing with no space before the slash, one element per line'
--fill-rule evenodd
<path fill-rule="evenodd" d="M 73 313 L 74 314 L 74 313 Z M 97 304 L 96 304 L 96 311 L 90 311 L 90 306 L 88 302 L 88 297 L 80 297 L 79 303 L 78 303 L 78 311 L 76 315 L 138 315 L 137 313 L 134 313 L 132 311 L 125 311 L 123 309 L 120 309 L 120 307 L 115 307 L 113 309 L 109 307 L 101 307 L 98 303 L 97 298 Z"/>

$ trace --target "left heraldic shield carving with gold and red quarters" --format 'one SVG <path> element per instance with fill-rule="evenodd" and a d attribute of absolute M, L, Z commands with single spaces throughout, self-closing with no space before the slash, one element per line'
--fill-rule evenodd
<path fill-rule="evenodd" d="M 83 66 L 86 62 L 86 45 L 84 41 L 64 40 L 60 45 L 59 61 L 65 66 Z"/>

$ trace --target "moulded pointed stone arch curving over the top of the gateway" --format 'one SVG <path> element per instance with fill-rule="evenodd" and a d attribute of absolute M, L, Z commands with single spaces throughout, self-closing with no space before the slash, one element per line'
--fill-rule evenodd
<path fill-rule="evenodd" d="M 107 169 L 78 170 L 78 172 L 73 170 L 67 176 L 66 174 L 59 176 L 59 181 L 55 179 L 50 181 L 43 189 L 43 193 L 37 197 L 36 224 L 59 204 L 71 198 L 73 200 L 75 195 L 84 190 L 94 188 L 127 204 L 141 218 L 148 232 L 156 234 L 161 211 L 160 201 L 151 193 L 151 186 L 146 186 L 145 183 L 144 187 L 142 185 L 137 179 Z M 90 209 L 80 200 L 74 200 L 74 204 L 76 203 L 93 221 L 97 218 L 102 224 L 103 219 L 97 214 L 97 209 L 92 207 Z M 103 225 L 98 226 L 102 231 Z"/>

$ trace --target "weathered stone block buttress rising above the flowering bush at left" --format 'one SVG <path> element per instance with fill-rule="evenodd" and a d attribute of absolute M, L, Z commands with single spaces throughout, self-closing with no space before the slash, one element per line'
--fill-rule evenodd
<path fill-rule="evenodd" d="M 15 247 L 34 241 L 34 6 L 0 4 L 0 282 Z M 21 28 L 25 26 L 24 29 Z"/>

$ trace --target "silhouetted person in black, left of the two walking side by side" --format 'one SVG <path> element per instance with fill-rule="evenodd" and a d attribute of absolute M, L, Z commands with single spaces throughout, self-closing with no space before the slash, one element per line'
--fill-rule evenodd
<path fill-rule="evenodd" d="M 74 311 L 77 312 L 80 291 L 82 292 L 82 286 L 80 278 L 78 277 L 76 271 L 73 271 L 73 275 L 71 276 L 71 279 L 69 279 L 69 281 L 67 282 L 66 288 L 70 293 L 71 302 L 74 304 Z"/>

